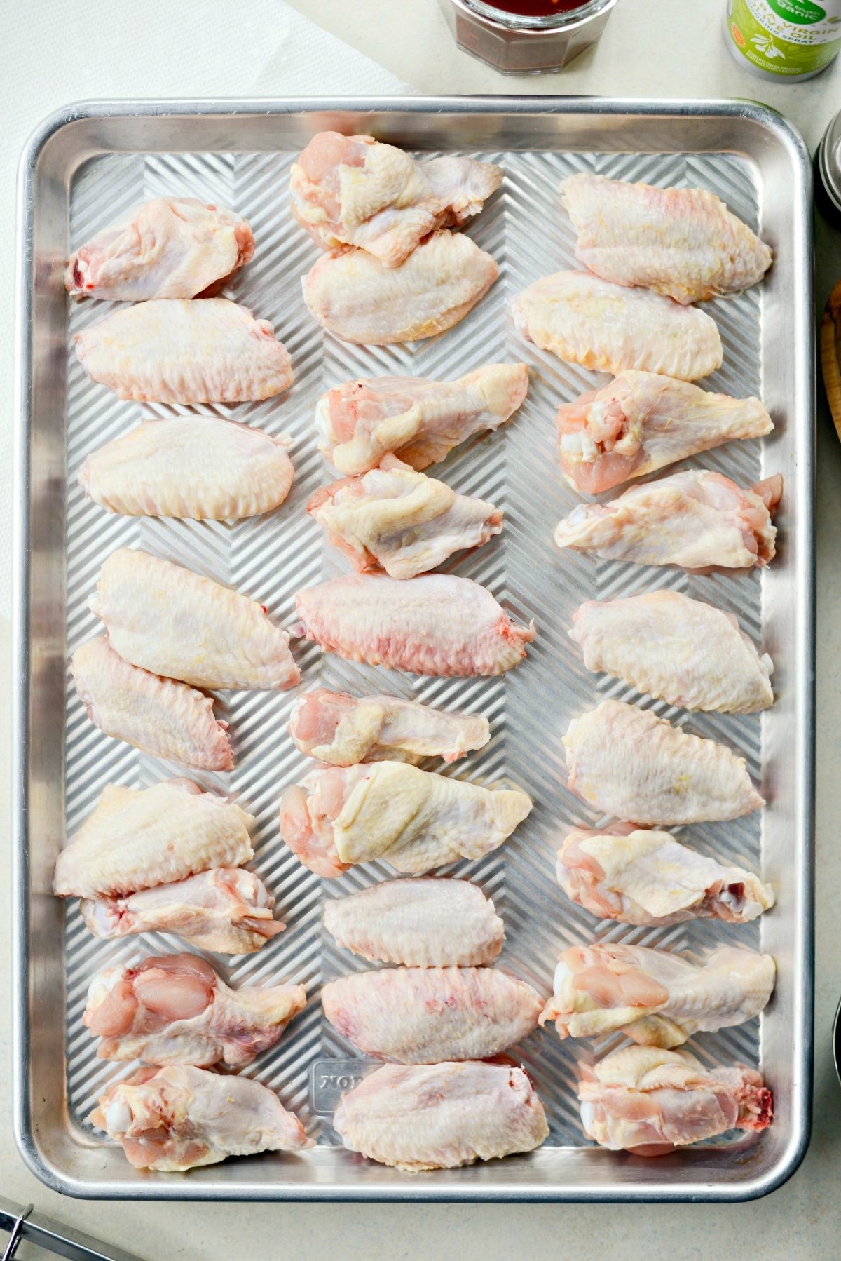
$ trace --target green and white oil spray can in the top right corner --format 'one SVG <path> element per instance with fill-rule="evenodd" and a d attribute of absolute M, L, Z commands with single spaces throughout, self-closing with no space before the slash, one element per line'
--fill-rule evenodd
<path fill-rule="evenodd" d="M 841 0 L 728 0 L 725 35 L 743 64 L 796 83 L 841 50 Z"/>

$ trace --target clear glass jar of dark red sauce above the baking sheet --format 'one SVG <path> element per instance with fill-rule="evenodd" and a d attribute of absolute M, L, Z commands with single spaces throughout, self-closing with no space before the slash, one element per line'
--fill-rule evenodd
<path fill-rule="evenodd" d="M 617 0 L 590 0 L 571 13 L 525 18 L 483 0 L 440 0 L 455 42 L 503 74 L 547 74 L 595 44 Z"/>

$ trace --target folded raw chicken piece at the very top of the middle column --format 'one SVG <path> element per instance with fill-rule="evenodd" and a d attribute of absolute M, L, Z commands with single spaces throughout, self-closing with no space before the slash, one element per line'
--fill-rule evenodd
<path fill-rule="evenodd" d="M 332 253 L 359 246 L 398 267 L 435 228 L 478 214 L 502 168 L 473 158 L 420 164 L 373 136 L 319 131 L 290 175 L 293 214 Z"/>

